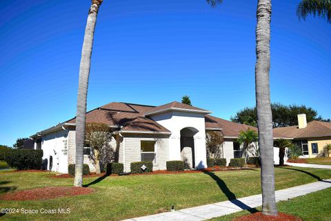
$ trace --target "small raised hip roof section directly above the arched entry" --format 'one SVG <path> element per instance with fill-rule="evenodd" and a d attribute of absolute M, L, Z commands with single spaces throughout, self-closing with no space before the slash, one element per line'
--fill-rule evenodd
<path fill-rule="evenodd" d="M 171 102 L 169 104 L 163 104 L 161 106 L 156 106 L 154 108 L 150 108 L 148 111 L 145 111 L 144 115 L 151 115 L 153 113 L 160 113 L 162 111 L 168 110 L 189 110 L 189 111 L 201 111 L 201 113 L 210 113 L 210 111 L 197 108 L 195 106 L 190 106 L 188 104 L 182 104 L 179 102 Z"/>

